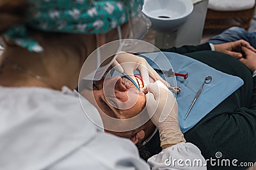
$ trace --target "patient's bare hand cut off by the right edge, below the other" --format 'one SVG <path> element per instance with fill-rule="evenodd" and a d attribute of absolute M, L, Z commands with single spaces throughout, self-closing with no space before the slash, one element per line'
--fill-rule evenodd
<path fill-rule="evenodd" d="M 250 69 L 250 71 L 256 70 L 256 53 L 252 50 L 249 50 L 246 47 L 242 47 L 242 50 L 244 52 L 245 58 L 241 57 L 239 60 L 245 64 L 245 66 Z"/>

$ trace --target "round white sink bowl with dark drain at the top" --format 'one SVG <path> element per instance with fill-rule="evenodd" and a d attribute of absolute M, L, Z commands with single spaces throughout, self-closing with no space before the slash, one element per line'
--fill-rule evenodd
<path fill-rule="evenodd" d="M 186 22 L 193 8 L 191 0 L 146 0 L 142 12 L 152 22 L 152 29 L 170 32 Z"/>

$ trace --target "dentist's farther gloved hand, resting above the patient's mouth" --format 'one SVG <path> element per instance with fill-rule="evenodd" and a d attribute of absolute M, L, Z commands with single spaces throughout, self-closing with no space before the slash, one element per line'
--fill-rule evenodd
<path fill-rule="evenodd" d="M 139 57 L 137 55 L 133 55 L 131 53 L 119 53 L 116 57 L 116 60 L 113 62 L 112 66 L 119 73 L 126 73 L 129 75 L 135 82 L 136 79 L 134 77 L 134 70 L 138 69 L 140 71 L 143 83 L 147 85 L 150 83 L 149 77 L 154 78 L 155 80 L 160 80 L 166 85 L 168 88 L 171 86 L 168 82 L 164 81 L 159 74 L 148 64 L 147 60 L 143 57 Z"/>

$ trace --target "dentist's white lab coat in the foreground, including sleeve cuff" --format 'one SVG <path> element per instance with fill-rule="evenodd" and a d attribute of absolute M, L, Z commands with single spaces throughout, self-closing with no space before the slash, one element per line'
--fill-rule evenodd
<path fill-rule="evenodd" d="M 182 143 L 150 158 L 150 166 L 167 169 L 170 154 L 204 159 L 195 145 Z M 0 87 L 0 169 L 150 168 L 131 141 L 93 124 L 71 91 Z"/>

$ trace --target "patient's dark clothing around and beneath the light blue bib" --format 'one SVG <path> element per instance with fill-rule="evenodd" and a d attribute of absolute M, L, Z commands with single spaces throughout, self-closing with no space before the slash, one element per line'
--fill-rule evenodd
<path fill-rule="evenodd" d="M 256 76 L 239 60 L 225 53 L 213 52 L 208 43 L 198 46 L 162 49 L 187 55 L 204 62 L 224 73 L 239 76 L 244 85 L 207 114 L 198 124 L 184 134 L 187 142 L 200 148 L 205 159 L 237 159 L 241 162 L 256 162 Z M 228 87 L 226 87 L 228 88 Z M 139 147 L 141 157 L 161 152 L 159 133 Z M 216 160 L 217 162 L 217 160 Z M 207 166 L 207 169 L 246 169 L 241 166 Z"/>

